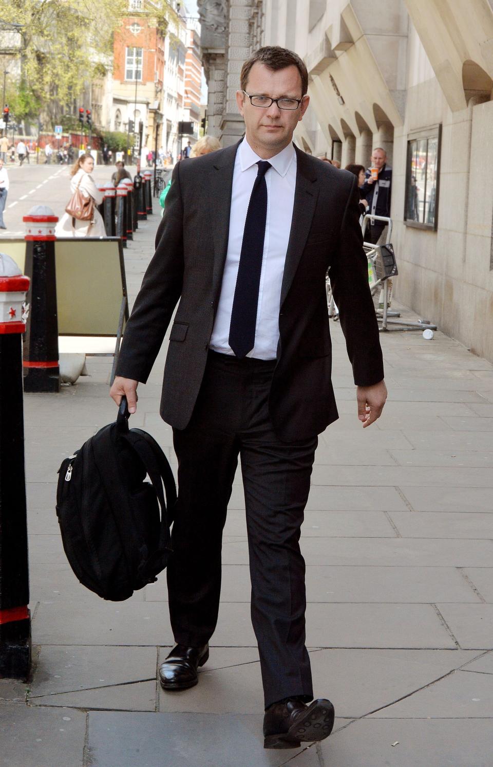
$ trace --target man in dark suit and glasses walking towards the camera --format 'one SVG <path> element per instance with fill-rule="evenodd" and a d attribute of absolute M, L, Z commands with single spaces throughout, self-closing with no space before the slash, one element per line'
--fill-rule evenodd
<path fill-rule="evenodd" d="M 182 690 L 209 657 L 239 455 L 266 748 L 323 739 L 334 723 L 329 700 L 310 703 L 299 548 L 317 434 L 337 419 L 327 268 L 363 427 L 386 399 L 357 179 L 294 147 L 306 94 L 297 54 L 261 48 L 237 92 L 245 139 L 176 166 L 111 389 L 135 411 L 137 382 L 149 376 L 179 302 L 161 400 L 179 461 L 167 571 L 176 647 L 159 677 L 165 690 Z"/>

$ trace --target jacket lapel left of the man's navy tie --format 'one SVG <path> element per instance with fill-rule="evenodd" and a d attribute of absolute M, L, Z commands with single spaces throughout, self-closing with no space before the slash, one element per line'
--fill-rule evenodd
<path fill-rule="evenodd" d="M 214 232 L 214 269 L 212 273 L 212 289 L 217 298 L 221 289 L 222 272 L 228 250 L 229 237 L 229 214 L 231 210 L 231 196 L 233 186 L 233 171 L 235 170 L 235 158 L 238 142 L 234 146 L 228 146 L 222 150 L 218 160 L 210 171 L 211 184 L 209 192 L 214 189 L 214 194 L 209 200 L 209 212 Z"/>

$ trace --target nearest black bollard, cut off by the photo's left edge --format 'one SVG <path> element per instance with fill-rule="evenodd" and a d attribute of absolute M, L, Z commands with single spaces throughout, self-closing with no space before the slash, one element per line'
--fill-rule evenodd
<path fill-rule="evenodd" d="M 31 617 L 21 334 L 29 280 L 18 272 L 11 258 L 0 255 L 0 677 L 27 680 Z"/>

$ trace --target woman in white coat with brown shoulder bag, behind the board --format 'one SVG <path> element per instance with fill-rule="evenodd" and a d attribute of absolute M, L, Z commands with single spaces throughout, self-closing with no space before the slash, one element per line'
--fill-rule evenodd
<path fill-rule="evenodd" d="M 90 154 L 82 154 L 75 161 L 71 170 L 71 194 L 77 187 L 81 189 L 84 197 L 92 197 L 94 201 L 94 215 L 91 221 L 79 221 L 67 212 L 61 217 L 56 225 L 57 237 L 106 237 L 104 221 L 97 210 L 97 205 L 103 202 L 103 193 L 97 188 L 93 177 L 90 175 L 94 170 L 94 160 Z"/>

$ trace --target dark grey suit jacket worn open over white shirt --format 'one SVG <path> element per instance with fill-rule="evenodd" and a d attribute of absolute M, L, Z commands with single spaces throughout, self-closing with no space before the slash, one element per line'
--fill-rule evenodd
<path fill-rule="evenodd" d="M 192 416 L 205 370 L 228 246 L 238 145 L 178 163 L 156 253 L 125 329 L 117 375 L 146 382 L 169 334 L 161 415 L 176 429 Z M 280 439 L 307 439 L 337 419 L 330 380 L 325 274 L 355 384 L 383 379 L 378 325 L 358 223 L 357 178 L 296 149 L 297 176 L 279 311 L 278 363 L 269 412 Z M 275 200 L 272 201 L 275 204 Z"/>

